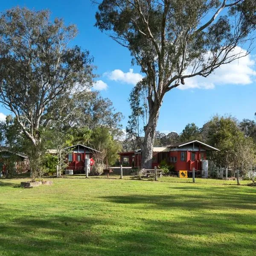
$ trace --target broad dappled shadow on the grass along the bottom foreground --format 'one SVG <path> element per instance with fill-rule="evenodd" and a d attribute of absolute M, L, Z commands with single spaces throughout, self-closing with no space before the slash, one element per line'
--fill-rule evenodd
<path fill-rule="evenodd" d="M 205 213 L 169 221 L 24 216 L 2 226 L 0 248 L 3 255 L 253 255 L 255 230 L 235 225 L 245 217 L 230 215 Z"/>

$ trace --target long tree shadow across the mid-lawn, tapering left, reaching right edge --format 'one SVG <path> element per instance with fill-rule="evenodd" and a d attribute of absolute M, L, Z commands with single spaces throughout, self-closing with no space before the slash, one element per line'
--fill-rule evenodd
<path fill-rule="evenodd" d="M 235 187 L 237 188 L 237 187 Z M 171 195 L 111 195 L 102 197 L 116 204 L 141 204 L 154 209 L 255 209 L 255 193 L 239 194 L 238 189 L 209 187 L 172 187 Z M 200 194 L 198 194 L 199 192 Z"/>

